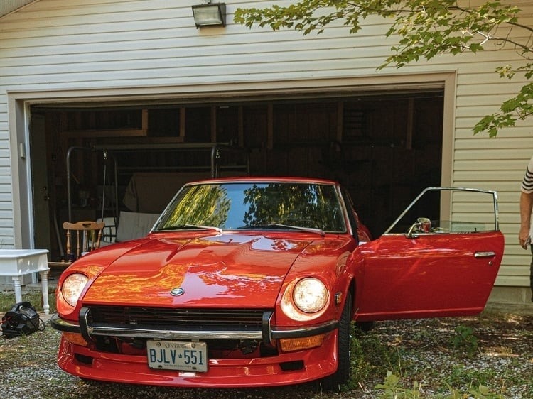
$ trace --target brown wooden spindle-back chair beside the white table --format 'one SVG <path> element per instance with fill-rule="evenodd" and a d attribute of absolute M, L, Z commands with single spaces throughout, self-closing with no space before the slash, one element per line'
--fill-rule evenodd
<path fill-rule="evenodd" d="M 67 258 L 60 262 L 48 262 L 48 267 L 67 267 L 85 253 L 98 249 L 102 240 L 104 222 L 65 222 L 63 229 L 67 235 Z"/>

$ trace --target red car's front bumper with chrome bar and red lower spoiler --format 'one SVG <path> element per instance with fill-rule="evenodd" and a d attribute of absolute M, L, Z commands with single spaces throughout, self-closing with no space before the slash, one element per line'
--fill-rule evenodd
<path fill-rule="evenodd" d="M 269 317 L 265 317 L 268 318 Z M 84 319 L 83 315 L 80 320 Z M 96 335 L 111 337 L 144 337 L 146 339 L 270 339 L 311 337 L 325 334 L 323 344 L 312 349 L 279 353 L 264 357 L 238 357 L 208 360 L 208 371 L 190 372 L 149 368 L 146 355 L 117 354 L 95 349 L 94 345 L 80 345 L 63 334 L 58 365 L 80 378 L 143 385 L 181 387 L 257 387 L 283 386 L 323 378 L 337 369 L 337 322 L 306 328 L 274 329 L 269 323 L 262 331 L 215 332 L 139 329 L 112 325 L 89 325 L 85 321 L 70 322 L 54 315 L 51 324 L 65 333 L 81 334 L 92 339 Z M 81 324 L 81 325 L 80 325 Z M 131 326 L 134 327 L 134 326 Z M 266 331 L 264 331 L 266 330 Z M 199 337 L 201 336 L 201 337 Z M 230 337 L 230 338 L 225 338 Z M 87 341 L 91 342 L 91 341 Z"/>

